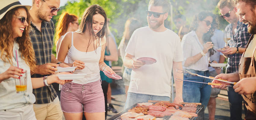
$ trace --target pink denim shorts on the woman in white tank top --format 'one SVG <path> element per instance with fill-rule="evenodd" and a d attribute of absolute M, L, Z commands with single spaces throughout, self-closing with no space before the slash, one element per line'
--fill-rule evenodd
<path fill-rule="evenodd" d="M 65 113 L 103 113 L 105 100 L 101 81 L 88 84 L 66 83 L 61 88 L 61 109 Z"/>

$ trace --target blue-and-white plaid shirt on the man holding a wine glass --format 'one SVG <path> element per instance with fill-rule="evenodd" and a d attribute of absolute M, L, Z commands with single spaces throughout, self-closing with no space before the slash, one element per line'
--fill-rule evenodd
<path fill-rule="evenodd" d="M 247 30 L 247 25 L 243 24 L 242 22 L 237 22 L 237 27 L 236 27 L 235 35 L 233 35 L 232 32 L 232 25 L 229 24 L 226 29 L 224 34 L 226 34 L 226 38 L 230 38 L 231 41 L 234 41 L 233 46 L 230 47 L 242 47 L 245 48 L 247 42 L 249 41 L 251 34 L 248 33 Z M 231 42 L 230 42 L 231 43 Z M 227 46 L 227 44 L 226 44 Z M 238 72 L 238 66 L 239 66 L 239 61 L 241 58 L 242 54 L 240 53 L 234 53 L 231 55 L 227 55 L 228 57 L 228 66 L 226 68 L 227 73 L 234 73 Z"/>

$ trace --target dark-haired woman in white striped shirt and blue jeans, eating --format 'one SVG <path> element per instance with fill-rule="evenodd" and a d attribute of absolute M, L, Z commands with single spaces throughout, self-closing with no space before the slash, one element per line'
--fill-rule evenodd
<path fill-rule="evenodd" d="M 209 57 L 214 54 L 212 49 L 211 23 L 213 13 L 202 11 L 198 13 L 189 28 L 190 32 L 184 35 L 181 41 L 184 61 L 183 69 L 203 76 L 209 76 Z M 196 82 L 211 82 L 210 79 L 183 73 L 183 79 Z M 211 86 L 202 83 L 183 81 L 183 101 L 190 103 L 202 103 L 207 106 L 211 93 Z"/>

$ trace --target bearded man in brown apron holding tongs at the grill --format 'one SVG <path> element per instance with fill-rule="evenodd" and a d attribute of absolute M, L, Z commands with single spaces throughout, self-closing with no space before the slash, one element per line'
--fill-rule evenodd
<path fill-rule="evenodd" d="M 248 32 L 253 34 L 248 41 L 245 52 L 243 53 L 240 63 L 239 72 L 230 74 L 220 74 L 215 78 L 227 79 L 230 82 L 237 82 L 233 88 L 243 96 L 244 105 L 248 109 L 245 120 L 256 119 L 256 1 L 255 0 L 236 0 L 237 13 L 239 21 L 247 24 Z M 226 82 L 214 80 L 213 83 Z M 213 88 L 225 88 L 224 85 L 214 85 Z"/>

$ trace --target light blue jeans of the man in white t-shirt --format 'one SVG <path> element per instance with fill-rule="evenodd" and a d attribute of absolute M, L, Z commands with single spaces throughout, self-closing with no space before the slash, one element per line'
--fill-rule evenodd
<path fill-rule="evenodd" d="M 127 108 L 133 106 L 136 103 L 148 102 L 148 100 L 170 101 L 170 97 L 157 96 L 157 95 L 146 95 L 146 94 L 138 94 L 138 93 L 128 92 L 124 109 L 127 109 Z"/>

